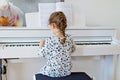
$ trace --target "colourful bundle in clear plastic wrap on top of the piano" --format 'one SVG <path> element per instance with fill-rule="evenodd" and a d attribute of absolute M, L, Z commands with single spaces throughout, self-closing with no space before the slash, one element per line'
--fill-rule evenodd
<path fill-rule="evenodd" d="M 0 16 L 9 18 L 8 26 L 23 26 L 23 11 L 8 0 L 0 0 Z"/>

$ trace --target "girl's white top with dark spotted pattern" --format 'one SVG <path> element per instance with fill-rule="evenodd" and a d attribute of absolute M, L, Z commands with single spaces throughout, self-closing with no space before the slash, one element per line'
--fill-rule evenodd
<path fill-rule="evenodd" d="M 40 72 L 50 77 L 63 77 L 71 74 L 71 53 L 75 50 L 73 39 L 66 34 L 66 42 L 60 43 L 61 38 L 51 36 L 45 40 L 45 45 L 39 49 L 38 55 L 47 59 Z"/>

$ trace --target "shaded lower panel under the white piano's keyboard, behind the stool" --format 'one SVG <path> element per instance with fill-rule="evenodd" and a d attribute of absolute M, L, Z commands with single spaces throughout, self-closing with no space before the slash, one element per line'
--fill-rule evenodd
<path fill-rule="evenodd" d="M 39 72 L 45 61 L 44 58 L 8 59 L 7 78 L 32 80 L 32 76 Z M 72 72 L 86 72 L 93 80 L 119 80 L 120 63 L 114 55 L 72 56 L 72 64 Z M 5 80 L 5 76 L 2 80 Z"/>

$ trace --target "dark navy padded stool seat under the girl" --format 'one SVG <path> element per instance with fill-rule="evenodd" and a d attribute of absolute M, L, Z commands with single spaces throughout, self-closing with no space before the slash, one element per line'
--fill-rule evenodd
<path fill-rule="evenodd" d="M 42 74 L 36 74 L 35 80 L 93 80 L 85 72 L 72 72 L 71 75 L 65 77 L 48 77 Z"/>

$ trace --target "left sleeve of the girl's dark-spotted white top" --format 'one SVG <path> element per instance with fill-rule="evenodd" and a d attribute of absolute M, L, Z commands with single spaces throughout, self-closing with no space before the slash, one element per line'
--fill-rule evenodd
<path fill-rule="evenodd" d="M 48 45 L 49 45 L 48 42 L 49 42 L 48 39 L 46 39 L 45 40 L 45 45 L 42 48 L 39 48 L 38 55 L 40 57 L 46 57 L 47 56 L 47 54 L 48 54 Z"/>

